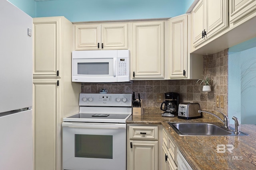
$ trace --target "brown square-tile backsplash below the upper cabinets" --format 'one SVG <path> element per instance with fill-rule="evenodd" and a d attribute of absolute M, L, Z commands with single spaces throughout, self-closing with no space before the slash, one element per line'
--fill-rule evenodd
<path fill-rule="evenodd" d="M 133 83 L 82 83 L 82 93 L 98 93 L 106 88 L 108 93 L 132 93 L 136 98 L 140 93 L 144 107 L 160 107 L 157 103 L 157 94 L 177 92 L 180 94 L 180 102 L 197 102 L 201 109 L 220 110 L 227 114 L 228 104 L 228 49 L 212 55 L 204 56 L 204 72 L 214 79 L 211 92 L 202 92 L 202 86 L 197 80 L 134 80 Z M 203 78 L 203 77 L 202 77 Z M 216 96 L 224 96 L 224 108 L 216 107 Z"/>

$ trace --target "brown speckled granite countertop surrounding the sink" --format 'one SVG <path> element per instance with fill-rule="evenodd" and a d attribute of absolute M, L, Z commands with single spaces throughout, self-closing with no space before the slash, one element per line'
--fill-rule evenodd
<path fill-rule="evenodd" d="M 200 119 L 184 120 L 177 116 L 162 117 L 161 113 L 162 111 L 141 116 L 132 115 L 126 123 L 162 124 L 194 170 L 256 169 L 256 125 L 240 125 L 240 131 L 249 136 L 179 136 L 167 122 L 218 122 L 218 119 L 203 115 Z M 225 148 L 226 152 L 218 153 L 217 145 L 229 146 Z M 231 153 L 228 148 L 232 147 L 234 149 L 230 150 Z"/>

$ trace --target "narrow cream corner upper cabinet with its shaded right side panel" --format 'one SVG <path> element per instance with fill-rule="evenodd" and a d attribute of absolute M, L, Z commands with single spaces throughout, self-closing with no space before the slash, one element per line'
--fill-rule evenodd
<path fill-rule="evenodd" d="M 167 79 L 198 79 L 203 74 L 203 56 L 190 54 L 190 19 L 184 14 L 167 21 Z"/>

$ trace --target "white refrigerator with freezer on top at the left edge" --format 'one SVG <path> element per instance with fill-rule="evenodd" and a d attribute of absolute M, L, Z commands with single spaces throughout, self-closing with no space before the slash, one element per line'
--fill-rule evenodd
<path fill-rule="evenodd" d="M 0 169 L 33 169 L 32 18 L 0 0 Z"/>

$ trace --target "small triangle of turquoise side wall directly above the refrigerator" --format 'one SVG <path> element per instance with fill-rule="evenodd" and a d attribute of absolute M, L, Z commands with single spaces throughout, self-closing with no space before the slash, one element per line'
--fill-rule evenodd
<path fill-rule="evenodd" d="M 32 18 L 36 17 L 36 2 L 34 0 L 8 0 Z"/>

